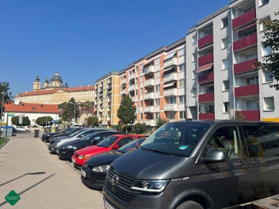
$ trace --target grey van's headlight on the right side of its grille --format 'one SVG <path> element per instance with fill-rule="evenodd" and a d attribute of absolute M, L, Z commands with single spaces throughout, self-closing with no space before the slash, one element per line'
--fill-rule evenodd
<path fill-rule="evenodd" d="M 133 187 L 142 192 L 163 192 L 169 180 L 135 180 Z"/>

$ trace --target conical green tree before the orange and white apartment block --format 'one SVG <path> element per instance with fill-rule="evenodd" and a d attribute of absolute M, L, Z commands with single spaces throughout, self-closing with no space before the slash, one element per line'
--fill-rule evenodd
<path fill-rule="evenodd" d="M 133 105 L 133 101 L 128 95 L 124 96 L 120 102 L 119 109 L 117 109 L 117 117 L 120 119 L 121 123 L 126 125 L 126 132 L 128 130 L 128 124 L 135 123 L 136 108 Z"/>

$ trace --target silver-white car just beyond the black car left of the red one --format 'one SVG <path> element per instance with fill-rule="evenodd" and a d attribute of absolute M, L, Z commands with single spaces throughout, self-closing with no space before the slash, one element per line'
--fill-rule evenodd
<path fill-rule="evenodd" d="M 49 147 L 49 150 L 50 150 L 50 153 L 57 153 L 56 149 L 58 146 L 60 146 L 61 144 L 64 144 L 68 141 L 74 141 L 76 139 L 80 139 L 82 137 L 85 137 L 87 136 L 88 134 L 91 134 L 91 133 L 94 133 L 94 132 L 100 132 L 100 131 L 116 131 L 116 130 L 113 130 L 113 129 L 108 129 L 108 128 L 93 128 L 93 127 L 87 127 L 87 128 L 84 128 L 82 130 L 79 130 L 77 132 L 74 132 L 73 134 L 70 134 L 68 137 L 63 137 L 63 138 L 56 138 L 58 140 L 56 140 L 56 142 L 50 144 L 48 147 Z M 117 132 L 117 131 L 116 131 Z"/>

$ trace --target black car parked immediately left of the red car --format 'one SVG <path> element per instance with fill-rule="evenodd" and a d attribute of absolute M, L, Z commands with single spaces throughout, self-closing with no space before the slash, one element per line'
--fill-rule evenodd
<path fill-rule="evenodd" d="M 73 156 L 75 150 L 79 150 L 86 146 L 91 146 L 98 144 L 100 141 L 103 141 L 105 138 L 110 137 L 110 135 L 119 134 L 117 131 L 100 131 L 89 134 L 81 139 L 76 139 L 74 141 L 69 141 L 61 146 L 57 147 L 57 155 L 61 159 L 70 160 Z"/>

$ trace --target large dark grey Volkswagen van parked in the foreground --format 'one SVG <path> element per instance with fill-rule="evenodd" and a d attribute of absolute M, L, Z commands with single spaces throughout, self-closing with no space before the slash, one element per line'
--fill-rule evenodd
<path fill-rule="evenodd" d="M 112 162 L 105 208 L 234 208 L 279 194 L 278 176 L 279 123 L 167 123 Z"/>

